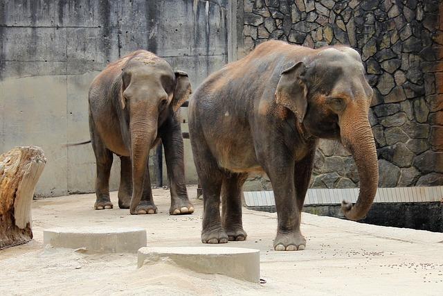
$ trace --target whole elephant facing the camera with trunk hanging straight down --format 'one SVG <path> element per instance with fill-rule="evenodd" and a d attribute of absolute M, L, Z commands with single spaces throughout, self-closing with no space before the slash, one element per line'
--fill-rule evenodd
<path fill-rule="evenodd" d="M 173 71 L 149 51 L 134 51 L 109 64 L 89 87 L 89 131 L 96 155 L 95 209 L 111 209 L 109 173 L 121 160 L 118 207 L 155 214 L 150 149 L 163 143 L 171 193 L 170 214 L 192 214 L 186 191 L 179 107 L 192 92 L 188 74 Z"/>

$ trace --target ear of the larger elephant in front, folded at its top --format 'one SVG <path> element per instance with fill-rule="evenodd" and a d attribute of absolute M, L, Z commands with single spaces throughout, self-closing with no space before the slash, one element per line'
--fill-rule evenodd
<path fill-rule="evenodd" d="M 303 62 L 282 71 L 274 94 L 275 102 L 296 114 L 300 123 L 307 110 L 307 87 L 303 81 L 305 73 L 306 67 Z"/>

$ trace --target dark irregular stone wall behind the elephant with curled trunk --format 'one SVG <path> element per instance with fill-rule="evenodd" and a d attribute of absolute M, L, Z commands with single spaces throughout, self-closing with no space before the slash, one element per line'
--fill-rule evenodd
<path fill-rule="evenodd" d="M 438 0 L 244 0 L 243 51 L 270 39 L 348 44 L 374 89 L 379 186 L 443 185 L 443 3 Z M 358 186 L 349 153 L 321 141 L 311 185 Z M 270 188 L 253 177 L 246 189 Z"/>

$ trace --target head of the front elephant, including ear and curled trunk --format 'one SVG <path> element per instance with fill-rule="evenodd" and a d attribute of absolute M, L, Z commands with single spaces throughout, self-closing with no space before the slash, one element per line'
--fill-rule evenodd
<path fill-rule="evenodd" d="M 378 184 L 377 150 L 368 112 L 373 95 L 359 53 L 341 46 L 319 49 L 284 69 L 275 90 L 276 103 L 287 107 L 307 137 L 338 139 L 350 151 L 360 177 L 359 198 L 343 201 L 351 220 L 368 213 Z"/>

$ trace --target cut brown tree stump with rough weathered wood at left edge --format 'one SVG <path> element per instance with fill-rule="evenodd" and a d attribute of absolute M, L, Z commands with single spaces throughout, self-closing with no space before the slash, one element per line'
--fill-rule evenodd
<path fill-rule="evenodd" d="M 35 146 L 0 155 L 0 250 L 33 238 L 30 207 L 45 164 L 42 148 Z"/>

